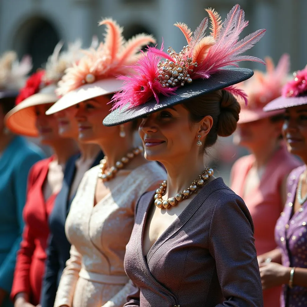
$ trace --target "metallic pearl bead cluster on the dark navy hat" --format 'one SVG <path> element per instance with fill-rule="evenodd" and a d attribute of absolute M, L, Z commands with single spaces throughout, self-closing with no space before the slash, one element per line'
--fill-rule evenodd
<path fill-rule="evenodd" d="M 197 67 L 197 62 L 193 63 L 193 58 L 185 55 L 189 50 L 189 45 L 184 46 L 179 53 L 176 53 L 172 47 L 167 49 L 174 61 L 166 59 L 158 64 L 158 78 L 162 87 L 184 86 L 185 82 L 192 82 L 189 73 L 193 72 L 193 67 Z"/>

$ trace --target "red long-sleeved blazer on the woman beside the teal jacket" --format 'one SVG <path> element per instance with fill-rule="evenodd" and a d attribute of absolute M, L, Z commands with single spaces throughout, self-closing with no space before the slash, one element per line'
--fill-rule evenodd
<path fill-rule="evenodd" d="M 20 249 L 17 253 L 11 299 L 19 292 L 29 294 L 30 303 L 40 302 L 41 283 L 45 268 L 48 216 L 52 211 L 56 195 L 44 200 L 43 185 L 46 181 L 49 163 L 53 157 L 35 163 L 29 172 L 28 190 L 23 218 L 25 227 Z"/>

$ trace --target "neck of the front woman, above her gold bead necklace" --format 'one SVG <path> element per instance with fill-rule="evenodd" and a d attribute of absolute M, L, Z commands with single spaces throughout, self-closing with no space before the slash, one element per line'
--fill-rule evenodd
<path fill-rule="evenodd" d="M 167 171 L 167 197 L 175 196 L 188 188 L 205 169 L 203 155 L 171 159 L 169 162 L 163 161 L 162 164 Z"/>

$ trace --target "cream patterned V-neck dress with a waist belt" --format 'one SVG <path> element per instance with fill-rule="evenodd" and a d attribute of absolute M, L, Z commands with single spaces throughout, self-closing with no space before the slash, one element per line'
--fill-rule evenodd
<path fill-rule="evenodd" d="M 110 193 L 94 206 L 98 172 L 99 165 L 85 173 L 71 204 L 65 230 L 72 247 L 55 307 L 122 307 L 131 290 L 123 261 L 135 204 L 166 178 L 156 162 L 121 170 L 105 182 Z"/>

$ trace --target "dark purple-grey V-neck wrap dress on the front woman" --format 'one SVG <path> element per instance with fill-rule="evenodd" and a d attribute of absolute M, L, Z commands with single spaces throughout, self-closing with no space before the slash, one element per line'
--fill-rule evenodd
<path fill-rule="evenodd" d="M 253 222 L 243 200 L 217 178 L 143 254 L 154 193 L 138 201 L 124 267 L 134 284 L 126 307 L 262 307 Z"/>

